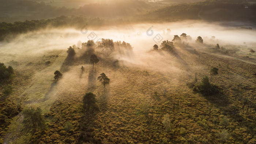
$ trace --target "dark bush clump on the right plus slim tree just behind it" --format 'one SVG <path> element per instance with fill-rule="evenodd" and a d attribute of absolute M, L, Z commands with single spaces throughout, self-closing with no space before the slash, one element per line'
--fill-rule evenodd
<path fill-rule="evenodd" d="M 218 75 L 218 68 L 212 67 L 210 70 L 211 79 L 212 75 Z M 199 92 L 204 96 L 217 94 L 219 92 L 218 87 L 211 83 L 211 79 L 209 80 L 208 76 L 204 76 L 200 82 L 197 81 L 197 77 L 193 82 L 188 83 L 188 86 L 192 88 L 193 91 Z"/>

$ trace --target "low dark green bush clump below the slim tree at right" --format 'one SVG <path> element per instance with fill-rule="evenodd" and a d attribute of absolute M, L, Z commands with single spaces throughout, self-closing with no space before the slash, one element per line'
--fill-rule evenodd
<path fill-rule="evenodd" d="M 218 87 L 211 84 L 207 76 L 204 76 L 201 82 L 195 84 L 193 91 L 197 91 L 204 96 L 217 94 L 219 92 Z"/>

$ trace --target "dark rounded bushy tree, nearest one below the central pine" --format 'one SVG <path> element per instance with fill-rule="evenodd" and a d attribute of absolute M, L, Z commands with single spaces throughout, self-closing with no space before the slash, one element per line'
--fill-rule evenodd
<path fill-rule="evenodd" d="M 93 108 L 97 107 L 96 106 L 96 95 L 93 94 L 92 92 L 86 93 L 83 96 L 83 104 L 87 110 L 90 110 L 90 107 L 92 107 L 92 106 L 93 106 Z"/>

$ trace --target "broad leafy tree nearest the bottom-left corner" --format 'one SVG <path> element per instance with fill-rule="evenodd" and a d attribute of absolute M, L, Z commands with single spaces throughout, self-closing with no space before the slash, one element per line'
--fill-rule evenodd
<path fill-rule="evenodd" d="M 34 131 L 36 131 L 37 128 L 45 128 L 45 121 L 40 107 L 37 107 L 37 109 L 34 107 L 29 107 L 28 109 L 23 110 L 22 113 L 24 115 L 22 122 L 28 128 L 33 128 Z"/>

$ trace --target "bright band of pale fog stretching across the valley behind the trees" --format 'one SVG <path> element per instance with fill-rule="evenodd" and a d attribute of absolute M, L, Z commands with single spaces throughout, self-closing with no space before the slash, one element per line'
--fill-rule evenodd
<path fill-rule="evenodd" d="M 166 29 L 171 32 L 167 33 Z M 82 34 L 84 33 L 84 34 Z M 87 42 L 94 39 L 109 38 L 114 41 L 125 41 L 134 48 L 135 54 L 141 54 L 152 49 L 154 44 L 168 39 L 171 41 L 173 35 L 186 33 L 192 37 L 189 44 L 195 43 L 197 36 L 204 39 L 204 43 L 216 45 L 245 45 L 255 46 L 256 30 L 237 29 L 237 27 L 225 27 L 214 23 L 202 21 L 185 21 L 163 24 L 134 24 L 125 26 L 112 26 L 97 29 L 45 29 L 20 34 L 9 42 L 0 42 L 1 53 L 6 54 L 36 54 L 45 50 L 65 50 L 69 46 L 77 45 L 78 41 Z M 215 39 L 211 39 L 215 36 Z"/>

